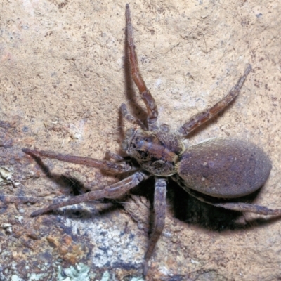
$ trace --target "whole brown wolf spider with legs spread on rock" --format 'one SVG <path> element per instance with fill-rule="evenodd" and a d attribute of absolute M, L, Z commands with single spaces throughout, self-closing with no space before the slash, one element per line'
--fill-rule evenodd
<path fill-rule="evenodd" d="M 134 161 L 127 161 L 114 153 L 110 154 L 113 161 L 106 161 L 27 148 L 22 149 L 22 151 L 32 157 L 41 156 L 58 159 L 63 162 L 82 164 L 108 171 L 112 174 L 133 172 L 131 176 L 103 190 L 94 190 L 72 197 L 65 202 L 51 204 L 48 207 L 34 211 L 31 216 L 39 216 L 48 211 L 81 202 L 102 198 L 118 198 L 141 183 L 141 181 L 150 176 L 155 177 L 154 225 L 145 254 L 145 275 L 148 270 L 148 261 L 164 228 L 168 177 L 176 181 L 188 194 L 216 207 L 235 211 L 250 211 L 263 215 L 280 215 L 281 210 L 272 210 L 267 207 L 240 202 L 214 203 L 198 195 L 229 199 L 248 195 L 261 188 L 270 174 L 271 162 L 263 150 L 256 147 L 256 145 L 233 138 L 213 138 L 188 148 L 185 148 L 183 144 L 183 139 L 190 132 L 209 121 L 237 97 L 245 79 L 251 72 L 251 65 L 247 66 L 237 84 L 222 100 L 218 101 L 213 107 L 191 117 L 188 122 L 181 126 L 178 133 L 172 133 L 166 125 L 158 126 L 158 110 L 155 99 L 147 86 L 145 86 L 145 82 L 138 70 L 128 4 L 126 4 L 126 37 L 128 39 L 131 77 L 140 91 L 147 110 L 147 120 L 144 124 L 141 120 L 129 114 L 125 104 L 121 105 L 124 118 L 135 126 L 141 127 L 141 129 L 135 129 L 134 126 L 127 130 L 122 144 L 124 152 Z"/>

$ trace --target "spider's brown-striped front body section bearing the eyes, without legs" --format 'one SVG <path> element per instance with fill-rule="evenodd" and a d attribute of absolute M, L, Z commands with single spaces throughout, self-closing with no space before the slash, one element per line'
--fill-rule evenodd
<path fill-rule="evenodd" d="M 175 174 L 176 163 L 185 150 L 181 139 L 174 133 L 141 129 L 126 131 L 122 148 L 143 169 L 157 176 Z"/>

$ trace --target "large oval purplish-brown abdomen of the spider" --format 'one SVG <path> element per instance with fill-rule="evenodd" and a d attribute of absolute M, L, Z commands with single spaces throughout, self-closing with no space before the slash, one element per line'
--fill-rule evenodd
<path fill-rule="evenodd" d="M 213 138 L 181 155 L 178 175 L 185 186 L 212 197 L 235 198 L 261 188 L 271 170 L 256 145 L 233 138 Z"/>

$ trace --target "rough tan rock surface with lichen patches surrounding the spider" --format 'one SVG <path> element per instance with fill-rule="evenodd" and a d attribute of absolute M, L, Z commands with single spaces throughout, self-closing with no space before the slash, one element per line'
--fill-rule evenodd
<path fill-rule="evenodd" d="M 71 178 L 98 189 L 98 169 L 21 148 L 103 159 L 120 152 L 119 106 L 145 119 L 125 49 L 124 1 L 2 1 L 0 37 L 0 280 L 142 280 L 153 181 L 118 204 L 30 213 L 72 196 Z M 248 63 L 240 96 L 190 143 L 235 137 L 273 169 L 250 199 L 281 208 L 280 1 L 133 1 L 138 60 L 172 130 L 222 98 Z M 143 191 L 144 190 L 144 191 Z M 281 220 L 207 207 L 169 183 L 166 226 L 147 280 L 280 280 Z M 75 279 L 75 276 L 77 279 Z M 68 278 L 68 279 L 67 279 Z M 80 278 L 80 279 L 79 279 Z"/>

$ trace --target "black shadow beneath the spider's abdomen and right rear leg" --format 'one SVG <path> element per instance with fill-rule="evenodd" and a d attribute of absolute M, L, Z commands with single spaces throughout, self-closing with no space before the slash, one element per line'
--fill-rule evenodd
<path fill-rule="evenodd" d="M 214 197 L 205 197 L 211 202 L 244 202 L 251 204 L 261 189 L 250 195 L 235 198 L 232 200 L 221 200 Z M 280 220 L 281 216 L 261 217 L 258 214 L 257 218 L 245 219 L 243 213 L 240 211 L 233 211 L 214 207 L 213 205 L 201 202 L 195 197 L 188 195 L 183 188 L 181 188 L 174 181 L 169 182 L 169 189 L 167 194 L 168 202 L 171 202 L 171 212 L 175 218 L 184 221 L 188 224 L 206 228 L 211 231 L 221 232 L 223 230 L 240 230 L 266 226 Z"/>

